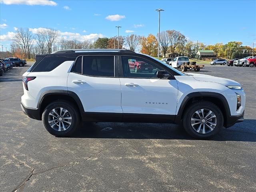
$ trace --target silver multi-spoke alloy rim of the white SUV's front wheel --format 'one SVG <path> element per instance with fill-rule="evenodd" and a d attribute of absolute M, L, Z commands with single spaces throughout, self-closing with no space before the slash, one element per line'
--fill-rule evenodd
<path fill-rule="evenodd" d="M 217 117 L 209 109 L 199 109 L 191 117 L 192 128 L 201 134 L 212 132 L 217 125 Z"/>

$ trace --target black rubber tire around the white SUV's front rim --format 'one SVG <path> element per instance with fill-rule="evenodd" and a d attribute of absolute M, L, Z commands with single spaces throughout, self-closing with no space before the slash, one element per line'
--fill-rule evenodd
<path fill-rule="evenodd" d="M 200 131 L 196 132 L 196 130 L 194 130 L 194 128 L 191 125 L 191 118 L 192 118 L 193 114 L 197 110 L 200 110 L 200 109 L 211 110 L 216 115 L 217 122 L 216 122 L 215 128 L 212 131 L 205 133 L 205 134 L 199 133 Z M 216 106 L 212 102 L 200 101 L 200 102 L 195 102 L 194 104 L 191 104 L 184 111 L 184 116 L 183 116 L 182 121 L 183 121 L 184 129 L 190 136 L 192 136 L 194 138 L 206 139 L 206 138 L 211 138 L 212 136 L 214 136 L 214 135 L 218 134 L 218 132 L 220 132 L 220 130 L 223 127 L 224 118 L 223 118 L 223 114 L 222 114 L 220 108 L 218 108 L 218 106 Z"/>

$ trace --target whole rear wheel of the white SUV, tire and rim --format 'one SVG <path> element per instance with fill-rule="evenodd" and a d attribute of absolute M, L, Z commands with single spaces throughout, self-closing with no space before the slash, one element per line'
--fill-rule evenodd
<path fill-rule="evenodd" d="M 58 137 L 70 136 L 80 124 L 78 109 L 66 101 L 50 103 L 42 114 L 42 120 L 46 130 Z"/>

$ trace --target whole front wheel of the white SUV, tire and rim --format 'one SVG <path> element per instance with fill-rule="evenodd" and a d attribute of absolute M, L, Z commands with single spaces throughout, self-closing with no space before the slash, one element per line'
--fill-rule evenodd
<path fill-rule="evenodd" d="M 183 126 L 194 138 L 210 138 L 220 132 L 224 118 L 218 106 L 201 101 L 189 106 L 185 111 Z"/>

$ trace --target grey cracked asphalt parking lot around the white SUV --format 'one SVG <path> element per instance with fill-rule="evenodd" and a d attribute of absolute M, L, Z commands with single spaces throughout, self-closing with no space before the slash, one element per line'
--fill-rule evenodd
<path fill-rule="evenodd" d="M 143 123 L 84 124 L 56 138 L 20 108 L 30 65 L 0 77 L 1 192 L 256 191 L 256 67 L 200 71 L 240 82 L 247 102 L 244 122 L 194 140 L 177 125 Z"/>

